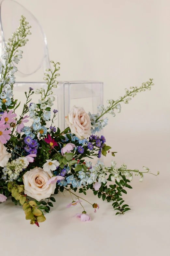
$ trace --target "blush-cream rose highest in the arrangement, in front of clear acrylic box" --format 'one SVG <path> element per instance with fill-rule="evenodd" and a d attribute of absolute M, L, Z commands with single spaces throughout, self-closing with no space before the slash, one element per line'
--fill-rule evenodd
<path fill-rule="evenodd" d="M 74 133 L 79 139 L 87 139 L 88 135 L 92 134 L 90 116 L 83 108 L 74 106 L 65 120 L 71 133 Z"/>

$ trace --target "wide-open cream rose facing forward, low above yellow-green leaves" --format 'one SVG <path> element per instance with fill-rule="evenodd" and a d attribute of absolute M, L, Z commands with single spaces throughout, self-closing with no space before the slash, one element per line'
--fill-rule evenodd
<path fill-rule="evenodd" d="M 45 172 L 42 168 L 35 167 L 23 175 L 24 193 L 35 198 L 37 201 L 50 197 L 54 194 L 56 184 L 47 185 L 52 177 L 52 172 Z"/>

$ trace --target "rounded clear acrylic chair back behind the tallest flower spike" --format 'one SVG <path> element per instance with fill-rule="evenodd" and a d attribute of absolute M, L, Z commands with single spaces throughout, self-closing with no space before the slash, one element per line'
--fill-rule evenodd
<path fill-rule="evenodd" d="M 41 67 L 44 68 L 43 72 L 50 67 L 46 35 L 33 14 L 22 5 L 12 0 L 0 1 L 0 56 L 3 54 L 5 40 L 7 41 L 19 26 L 21 15 L 25 16 L 32 26 L 30 28 L 32 35 L 28 36 L 29 42 L 21 47 L 23 59 L 17 65 L 18 75 L 26 77 Z"/>

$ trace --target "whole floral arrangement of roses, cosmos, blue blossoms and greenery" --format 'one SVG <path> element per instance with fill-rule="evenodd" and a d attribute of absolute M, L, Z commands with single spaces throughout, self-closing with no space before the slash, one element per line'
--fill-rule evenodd
<path fill-rule="evenodd" d="M 130 182 L 133 174 L 139 176 L 142 182 L 144 173 L 150 173 L 150 170 L 145 166 L 143 171 L 127 169 L 124 163 L 117 166 L 113 160 L 110 166 L 100 162 L 101 156 L 106 157 L 111 147 L 106 145 L 105 137 L 99 136 L 98 132 L 107 125 L 105 114 L 114 117 L 115 112 L 120 113 L 120 102 L 128 104 L 137 93 L 150 90 L 154 85 L 152 79 L 140 87 L 125 89 L 124 96 L 118 100 L 107 100 L 108 106 L 100 105 L 96 114 L 86 113 L 82 107 L 74 106 L 65 117 L 68 128 L 60 131 L 55 127 L 58 111 L 51 111 L 55 100 L 52 89 L 58 84 L 56 77 L 59 76 L 60 63 L 51 61 L 54 69 L 47 69 L 44 77 L 47 88 L 35 92 L 29 88 L 29 92 L 25 92 L 23 111 L 17 115 L 20 103 L 13 97 L 14 74 L 17 72 L 13 63 L 18 64 L 22 58 L 23 52 L 19 47 L 27 43 L 30 28 L 25 17 L 21 16 L 20 25 L 6 42 L 1 56 L 0 202 L 10 197 L 15 205 L 22 206 L 25 218 L 39 227 L 39 223 L 46 220 L 45 214 L 53 207 L 55 198 L 52 195 L 59 191 L 67 192 L 71 200 L 66 208 L 79 204 L 83 209 L 75 216 L 81 221 L 90 221 L 83 201 L 90 203 L 96 213 L 98 200 L 91 203 L 79 195 L 85 196 L 86 191 L 91 189 L 95 196 L 112 203 L 116 215 L 124 214 L 130 208 L 124 203 L 122 194 L 127 194 L 126 189 L 132 189 Z M 34 93 L 40 96 L 36 103 L 31 102 Z M 32 124 L 27 126 L 29 120 Z M 114 157 L 117 152 L 110 153 Z M 99 160 L 92 166 L 88 159 L 94 157 Z"/>

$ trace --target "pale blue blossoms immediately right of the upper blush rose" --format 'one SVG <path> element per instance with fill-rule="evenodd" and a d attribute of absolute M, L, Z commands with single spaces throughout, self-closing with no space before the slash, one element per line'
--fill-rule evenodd
<path fill-rule="evenodd" d="M 99 117 L 99 113 L 91 114 L 89 112 L 89 116 L 90 116 L 91 123 L 94 126 L 91 128 L 92 134 L 101 131 L 107 125 L 108 117 L 106 117 L 105 119 L 96 121 L 96 119 Z"/>

